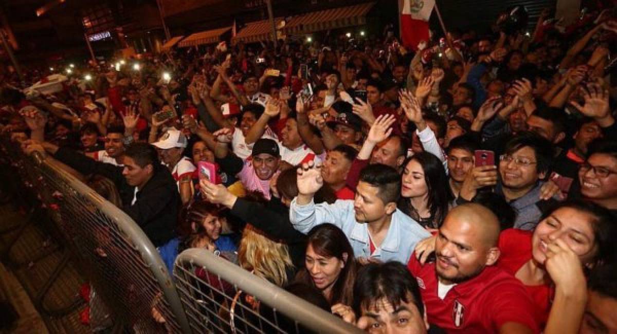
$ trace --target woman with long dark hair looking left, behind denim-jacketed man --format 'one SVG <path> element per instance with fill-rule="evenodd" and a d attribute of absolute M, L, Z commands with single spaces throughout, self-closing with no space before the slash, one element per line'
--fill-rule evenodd
<path fill-rule="evenodd" d="M 432 153 L 421 152 L 403 163 L 399 209 L 428 229 L 438 229 L 453 199 L 444 165 Z"/>

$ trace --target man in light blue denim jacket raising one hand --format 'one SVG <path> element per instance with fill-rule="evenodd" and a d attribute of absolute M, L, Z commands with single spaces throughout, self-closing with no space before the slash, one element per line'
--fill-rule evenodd
<path fill-rule="evenodd" d="M 416 242 L 429 235 L 418 222 L 397 209 L 401 178 L 396 169 L 376 164 L 362 169 L 354 200 L 333 204 L 313 202 L 323 185 L 321 165 L 305 163 L 298 168 L 298 195 L 291 202 L 289 221 L 308 233 L 331 222 L 345 232 L 357 258 L 407 263 Z"/>

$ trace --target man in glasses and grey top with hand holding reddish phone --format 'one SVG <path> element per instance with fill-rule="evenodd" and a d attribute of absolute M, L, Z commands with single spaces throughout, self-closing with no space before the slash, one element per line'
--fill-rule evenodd
<path fill-rule="evenodd" d="M 498 166 L 474 167 L 460 190 L 457 204 L 473 200 L 479 189 L 495 186 L 516 212 L 514 227 L 533 230 L 553 198 L 542 199 L 540 188 L 549 172 L 553 145 L 533 132 L 522 132 L 505 145 Z"/>

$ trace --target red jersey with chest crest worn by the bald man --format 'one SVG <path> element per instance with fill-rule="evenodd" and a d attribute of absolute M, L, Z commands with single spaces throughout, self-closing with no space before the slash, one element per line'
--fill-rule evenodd
<path fill-rule="evenodd" d="M 497 333 L 503 324 L 518 322 L 540 332 L 523 284 L 498 267 L 486 267 L 473 279 L 458 283 L 443 300 L 437 295 L 434 263 L 422 266 L 414 254 L 407 267 L 418 280 L 429 324 L 448 333 Z"/>

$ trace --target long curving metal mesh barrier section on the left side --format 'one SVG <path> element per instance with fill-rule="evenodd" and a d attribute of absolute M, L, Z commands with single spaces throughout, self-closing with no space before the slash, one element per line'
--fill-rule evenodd
<path fill-rule="evenodd" d="M 25 157 L 2 141 L 20 176 L 46 207 L 56 230 L 85 271 L 115 328 L 138 333 L 189 333 L 167 268 L 143 230 L 116 206 L 51 158 Z M 154 320 L 153 309 L 166 322 Z"/>

